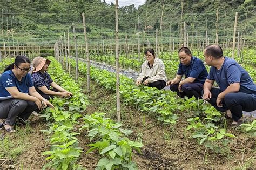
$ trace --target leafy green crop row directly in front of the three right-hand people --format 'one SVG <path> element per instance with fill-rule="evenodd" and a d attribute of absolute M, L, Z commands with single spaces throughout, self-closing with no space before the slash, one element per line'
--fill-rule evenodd
<path fill-rule="evenodd" d="M 71 65 L 75 66 L 74 60 L 71 61 Z M 86 75 L 85 63 L 79 62 L 79 71 Z M 91 66 L 91 78 L 107 90 L 114 92 L 116 89 L 114 73 Z M 187 119 L 187 130 L 192 132 L 192 137 L 197 138 L 200 144 L 207 141 L 207 146 L 213 147 L 221 141 L 221 144 L 226 145 L 230 141 L 226 138 L 234 137 L 226 133 L 224 116 L 213 106 L 203 104 L 203 100 L 196 100 L 194 97 L 182 99 L 175 92 L 159 91 L 147 86 L 137 87 L 125 76 L 120 76 L 120 94 L 125 104 L 150 113 L 164 124 L 176 124 L 177 113 L 181 117 L 192 115 L 193 118 Z"/>

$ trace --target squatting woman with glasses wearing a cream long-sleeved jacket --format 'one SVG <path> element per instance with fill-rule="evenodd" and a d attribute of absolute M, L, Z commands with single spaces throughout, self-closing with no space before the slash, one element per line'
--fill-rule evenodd
<path fill-rule="evenodd" d="M 137 78 L 137 86 L 144 84 L 149 87 L 163 89 L 166 86 L 167 78 L 165 76 L 165 67 L 162 60 L 156 58 L 153 49 L 146 49 L 145 62 L 142 64 L 142 70 Z"/>

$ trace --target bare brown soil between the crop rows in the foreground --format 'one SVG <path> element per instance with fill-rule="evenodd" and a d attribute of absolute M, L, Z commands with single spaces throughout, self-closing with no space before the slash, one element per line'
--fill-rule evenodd
<path fill-rule="evenodd" d="M 91 105 L 87 107 L 86 114 L 96 111 L 105 112 L 109 117 L 116 119 L 114 94 L 105 91 L 93 82 L 91 89 L 92 92 L 87 94 Z M 133 155 L 133 160 L 139 169 L 256 169 L 255 138 L 237 128 L 228 128 L 228 132 L 238 138 L 233 139 L 233 143 L 217 152 L 200 146 L 195 139 L 190 137 L 190 132 L 185 130 L 187 118 L 182 113 L 179 113 L 177 124 L 164 126 L 158 123 L 153 115 L 139 112 L 133 106 L 122 104 L 121 109 L 124 127 L 134 131 L 129 138 L 142 141 L 144 145 L 143 154 L 134 151 Z M 46 122 L 39 117 L 31 117 L 30 120 L 32 132 L 26 136 L 27 140 L 24 141 L 25 151 L 19 155 L 17 161 L 0 158 L 0 165 L 2 164 L 0 169 L 12 168 L 10 165 L 16 169 L 41 169 L 46 163 L 46 157 L 43 157 L 41 153 L 49 149 L 48 142 L 46 142 L 48 137 L 40 131 L 46 128 Z M 4 133 L 4 130 L 1 132 Z M 79 164 L 87 169 L 94 169 L 100 155 L 98 153 L 85 154 L 89 149 L 86 145 L 90 143 L 86 134 L 82 131 L 77 136 L 79 146 L 84 148 Z M 20 139 L 16 137 L 12 140 Z"/>

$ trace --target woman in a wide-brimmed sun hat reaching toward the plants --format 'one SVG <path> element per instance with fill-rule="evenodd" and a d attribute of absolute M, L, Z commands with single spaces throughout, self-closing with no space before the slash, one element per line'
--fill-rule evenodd
<path fill-rule="evenodd" d="M 36 57 L 32 61 L 34 67 L 31 75 L 36 91 L 45 99 L 53 96 L 71 97 L 73 94 L 57 85 L 46 72 L 51 61 L 43 57 Z M 51 88 L 52 87 L 52 88 Z"/>

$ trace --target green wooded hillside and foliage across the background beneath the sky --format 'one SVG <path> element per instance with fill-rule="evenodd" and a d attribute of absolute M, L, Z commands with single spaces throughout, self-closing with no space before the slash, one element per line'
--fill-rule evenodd
<path fill-rule="evenodd" d="M 83 37 L 82 12 L 85 13 L 87 32 L 92 42 L 114 39 L 115 6 L 113 3 L 107 4 L 100 0 L 2 0 L 0 5 L 3 10 L 3 15 L 0 17 L 0 30 L 2 31 L 2 22 L 4 29 L 4 33 L 0 34 L 1 42 L 8 41 L 6 30 L 11 30 L 11 17 L 16 44 L 26 40 L 30 43 L 53 45 L 66 29 L 72 31 L 72 22 L 76 24 L 78 36 L 80 34 Z M 147 0 L 138 9 L 133 4 L 120 7 L 120 38 L 124 38 L 125 34 L 131 38 L 138 30 L 143 31 L 146 20 L 146 25 L 149 26 L 146 30 L 146 38 L 153 38 L 156 29 L 160 29 L 162 6 L 163 0 Z M 188 35 L 204 39 L 207 28 L 208 36 L 213 40 L 215 39 L 216 11 L 217 1 L 215 0 L 165 0 L 162 35 L 165 37 L 172 35 L 178 39 L 180 22 L 185 21 Z M 219 1 L 219 39 L 221 40 L 223 35 L 232 39 L 235 12 L 238 12 L 238 28 L 241 35 L 255 42 L 255 1 L 251 0 Z M 9 38 L 10 35 L 11 32 L 9 32 Z"/>

